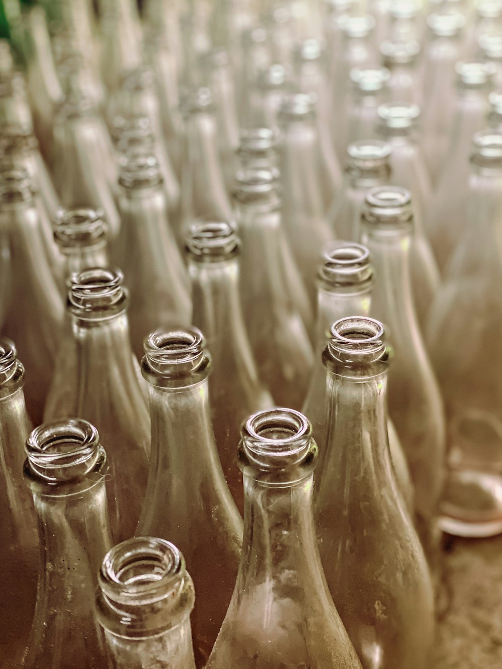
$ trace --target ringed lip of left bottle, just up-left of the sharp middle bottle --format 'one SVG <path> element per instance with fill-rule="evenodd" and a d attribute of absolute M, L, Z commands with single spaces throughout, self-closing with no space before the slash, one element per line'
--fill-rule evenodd
<path fill-rule="evenodd" d="M 127 310 L 129 295 L 121 270 L 91 267 L 70 278 L 68 308 L 82 321 L 108 320 Z"/>

